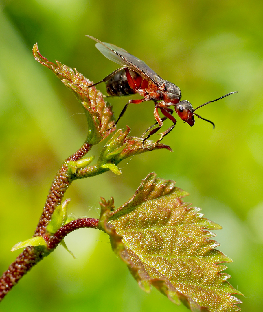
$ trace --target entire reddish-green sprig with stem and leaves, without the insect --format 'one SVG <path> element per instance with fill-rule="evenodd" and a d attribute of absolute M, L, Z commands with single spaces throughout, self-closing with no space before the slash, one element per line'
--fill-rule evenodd
<path fill-rule="evenodd" d="M 230 276 L 222 273 L 226 267 L 220 265 L 232 260 L 214 249 L 219 243 L 211 239 L 215 234 L 210 230 L 221 227 L 204 218 L 199 208 L 183 202 L 188 193 L 176 188 L 174 181 L 156 178 L 151 173 L 134 196 L 114 212 L 113 198 L 108 202 L 101 198 L 99 220 L 80 218 L 70 221 L 67 218 L 69 200 L 62 203 L 62 198 L 72 181 L 108 170 L 121 174 L 117 164 L 123 159 L 154 149 L 171 151 L 171 148 L 128 136 L 130 128 L 127 126 L 124 132 L 122 129 L 116 131 L 102 149 L 97 163 L 90 165 L 95 157 L 83 157 L 92 145 L 115 130 L 111 129 L 114 124 L 112 107 L 95 86 L 89 87 L 92 82 L 82 74 L 41 56 L 37 44 L 33 54 L 81 102 L 87 117 L 88 134 L 82 147 L 62 163 L 53 180 L 34 234 L 44 244 L 27 245 L 33 244 L 34 239 L 19 244 L 27 247 L 3 273 L 0 300 L 32 266 L 63 243 L 68 233 L 80 227 L 93 227 L 110 236 L 113 251 L 127 264 L 142 289 L 150 291 L 154 286 L 171 301 L 182 302 L 195 312 L 240 310 L 237 304 L 241 301 L 233 295 L 242 294 L 228 283 Z"/>

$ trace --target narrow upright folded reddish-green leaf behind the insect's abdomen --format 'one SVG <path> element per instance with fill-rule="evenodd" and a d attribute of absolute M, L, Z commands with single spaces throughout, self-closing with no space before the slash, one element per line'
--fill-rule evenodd
<path fill-rule="evenodd" d="M 82 104 L 87 117 L 89 127 L 87 141 L 90 144 L 97 144 L 114 131 L 114 128 L 107 131 L 114 124 L 112 107 L 104 101 L 102 93 L 95 86 L 88 87 L 92 84 L 90 80 L 76 69 L 72 70 L 59 61 L 56 61 L 57 64 L 49 62 L 40 54 L 37 43 L 33 47 L 33 55 L 39 63 L 49 68 Z"/>

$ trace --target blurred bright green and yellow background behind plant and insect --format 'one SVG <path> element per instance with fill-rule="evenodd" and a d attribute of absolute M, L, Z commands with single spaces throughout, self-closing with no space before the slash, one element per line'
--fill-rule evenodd
<path fill-rule="evenodd" d="M 87 132 L 72 93 L 32 56 L 40 52 L 97 82 L 117 69 L 85 37 L 120 46 L 178 85 L 193 107 L 228 92 L 198 113 L 216 124 L 178 119 L 153 151 L 105 173 L 75 181 L 66 197 L 76 217 L 98 217 L 100 196 L 116 207 L 150 172 L 173 179 L 205 217 L 221 224 L 219 249 L 235 262 L 226 272 L 244 293 L 242 311 L 262 311 L 263 301 L 263 2 L 247 0 L 0 2 L 0 269 L 32 236 L 49 186 L 62 161 Z M 99 89 L 105 94 L 105 86 Z M 118 116 L 126 98 L 110 99 Z M 130 105 L 119 127 L 141 135 L 153 122 L 153 103 Z M 167 129 L 171 122 L 166 121 Z M 154 136 L 154 140 L 158 136 Z M 97 155 L 102 145 L 91 155 Z M 77 259 L 59 246 L 32 269 L 0 305 L 12 311 L 187 311 L 155 289 L 144 293 L 111 251 L 106 234 L 80 229 L 65 239 Z"/>

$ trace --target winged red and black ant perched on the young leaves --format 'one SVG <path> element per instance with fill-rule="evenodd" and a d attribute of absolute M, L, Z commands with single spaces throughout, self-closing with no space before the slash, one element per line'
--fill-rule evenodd
<path fill-rule="evenodd" d="M 212 121 L 202 118 L 200 115 L 194 113 L 194 111 L 206 104 L 220 100 L 233 93 L 238 93 L 238 91 L 228 93 L 216 100 L 206 102 L 198 106 L 194 110 L 191 103 L 187 100 L 180 101 L 181 90 L 177 87 L 177 85 L 174 85 L 170 81 L 162 79 L 143 61 L 131 55 L 124 49 L 119 48 L 111 43 L 101 42 L 92 36 L 86 36 L 97 41 L 96 48 L 104 56 L 106 56 L 109 60 L 119 65 L 122 65 L 121 68 L 113 71 L 107 77 L 97 83 L 94 83 L 93 85 L 90 85 L 89 87 L 97 85 L 101 82 L 106 82 L 106 90 L 108 95 L 110 96 L 125 96 L 135 93 L 143 96 L 143 98 L 140 100 L 129 100 L 122 109 L 121 114 L 119 115 L 115 124 L 110 129 L 112 129 L 118 123 L 129 104 L 140 104 L 143 101 L 150 100 L 154 101 L 155 107 L 153 114 L 156 123 L 151 125 L 151 127 L 149 127 L 142 136 L 144 136 L 146 132 L 153 128 L 155 125 L 158 124 L 158 126 L 155 129 L 149 131 L 148 136 L 144 138 L 143 142 L 145 142 L 145 140 L 148 139 L 152 134 L 156 133 L 161 128 L 163 121 L 167 118 L 173 122 L 173 125 L 169 129 L 161 133 L 161 138 L 157 140 L 155 144 L 160 142 L 164 136 L 171 132 L 176 124 L 176 119 L 172 115 L 173 110 L 169 108 L 170 106 L 174 106 L 178 116 L 190 126 L 193 126 L 195 124 L 194 115 L 196 115 L 198 118 L 210 122 L 213 125 L 213 128 L 215 128 L 215 124 Z M 158 109 L 160 109 L 161 113 L 165 117 L 161 118 L 159 116 Z"/>

